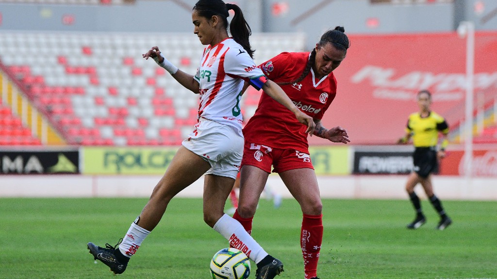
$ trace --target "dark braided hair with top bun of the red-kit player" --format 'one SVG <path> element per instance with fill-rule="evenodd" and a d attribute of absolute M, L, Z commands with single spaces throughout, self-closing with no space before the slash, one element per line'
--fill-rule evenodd
<path fill-rule="evenodd" d="M 336 26 L 335 29 L 326 31 L 325 34 L 321 36 L 318 45 L 324 46 L 325 44 L 329 43 L 332 43 L 333 46 L 335 46 L 335 48 L 337 49 L 342 49 L 347 51 L 347 49 L 350 47 L 350 42 L 348 41 L 347 35 L 345 35 L 345 28 L 343 28 L 343 26 Z M 299 78 L 289 82 L 278 82 L 278 84 L 286 85 L 302 81 L 302 79 L 304 79 L 304 77 L 306 77 L 311 71 L 311 68 L 314 66 L 315 60 L 316 60 L 316 48 L 312 50 L 311 57 L 309 57 L 309 61 L 306 64 L 306 68 L 304 68 L 304 71 L 299 76 Z"/>

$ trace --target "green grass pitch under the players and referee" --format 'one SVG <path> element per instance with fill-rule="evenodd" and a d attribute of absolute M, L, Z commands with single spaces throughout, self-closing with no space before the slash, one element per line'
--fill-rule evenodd
<path fill-rule="evenodd" d="M 173 199 L 166 215 L 118 277 L 94 263 L 86 243 L 116 244 L 147 199 L 0 199 L 0 279 L 209 279 L 209 261 L 227 241 L 202 219 L 201 199 Z M 443 201 L 454 223 L 407 230 L 406 200 L 324 200 L 321 279 L 497 278 L 497 203 Z M 229 206 L 229 202 L 227 203 Z M 261 199 L 254 238 L 285 265 L 277 279 L 303 279 L 302 215 L 292 199 L 279 209 Z M 252 263 L 254 278 L 255 264 Z"/>

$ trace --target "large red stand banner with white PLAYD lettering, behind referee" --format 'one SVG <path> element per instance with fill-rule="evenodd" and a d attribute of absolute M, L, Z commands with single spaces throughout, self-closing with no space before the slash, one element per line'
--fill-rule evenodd
<path fill-rule="evenodd" d="M 475 35 L 475 98 L 497 95 L 497 32 Z M 464 118 L 466 39 L 453 33 L 349 35 L 351 47 L 340 67 L 336 98 L 324 126 L 347 129 L 352 144 L 392 144 L 404 135 L 415 95 L 429 89 L 433 111 L 454 127 Z M 476 104 L 476 102 L 475 102 Z M 329 144 L 310 137 L 311 144 Z"/>

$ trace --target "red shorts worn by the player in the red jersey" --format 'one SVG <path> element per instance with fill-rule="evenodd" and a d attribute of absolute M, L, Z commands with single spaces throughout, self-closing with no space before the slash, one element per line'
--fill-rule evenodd
<path fill-rule="evenodd" d="M 311 156 L 295 149 L 279 149 L 257 143 L 245 143 L 242 166 L 250 165 L 259 169 L 280 173 L 292 169 L 314 169 Z"/>

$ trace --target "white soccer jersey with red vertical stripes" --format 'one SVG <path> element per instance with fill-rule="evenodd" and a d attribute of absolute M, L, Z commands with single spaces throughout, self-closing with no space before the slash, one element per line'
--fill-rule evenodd
<path fill-rule="evenodd" d="M 240 99 L 244 80 L 259 90 L 267 80 L 244 50 L 232 38 L 204 49 L 195 74 L 200 84 L 198 117 L 242 129 Z"/>

